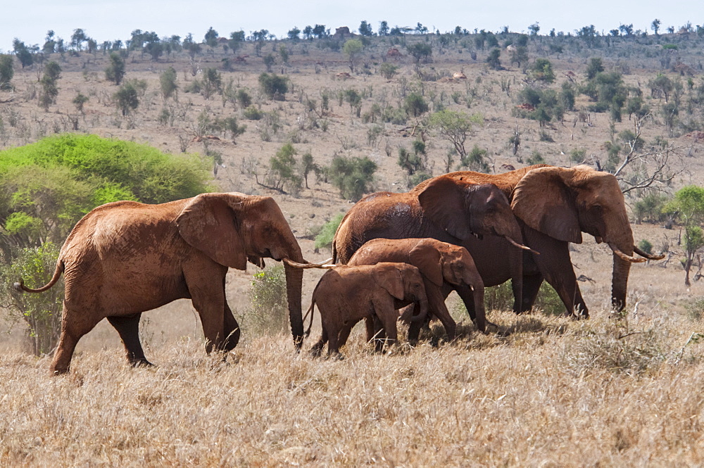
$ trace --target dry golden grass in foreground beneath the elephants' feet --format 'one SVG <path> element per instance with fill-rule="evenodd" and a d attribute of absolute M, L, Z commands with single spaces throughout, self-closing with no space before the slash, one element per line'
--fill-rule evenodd
<path fill-rule="evenodd" d="M 346 360 L 250 339 L 222 362 L 194 339 L 117 349 L 71 374 L 0 358 L 2 466 L 696 466 L 701 330 L 684 314 L 587 322 L 494 312 L 498 334 Z M 624 336 L 629 334 L 628 336 Z M 307 343 L 310 345 L 310 343 Z"/>

